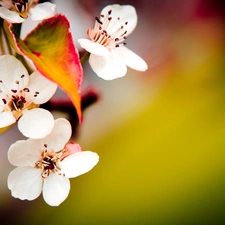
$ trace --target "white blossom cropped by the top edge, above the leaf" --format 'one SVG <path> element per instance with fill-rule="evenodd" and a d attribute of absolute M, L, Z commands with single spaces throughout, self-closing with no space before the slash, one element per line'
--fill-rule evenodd
<path fill-rule="evenodd" d="M 39 0 L 0 0 L 0 17 L 10 23 L 22 23 L 28 18 L 43 20 L 55 15 L 56 5 Z"/>

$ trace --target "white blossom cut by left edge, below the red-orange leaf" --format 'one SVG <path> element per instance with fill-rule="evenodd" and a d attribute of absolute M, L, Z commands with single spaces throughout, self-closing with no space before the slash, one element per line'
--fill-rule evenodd
<path fill-rule="evenodd" d="M 14 56 L 0 56 L 0 128 L 19 120 L 18 128 L 27 137 L 42 138 L 49 134 L 54 118 L 38 107 L 52 97 L 56 88 L 38 71 L 29 76 Z"/>

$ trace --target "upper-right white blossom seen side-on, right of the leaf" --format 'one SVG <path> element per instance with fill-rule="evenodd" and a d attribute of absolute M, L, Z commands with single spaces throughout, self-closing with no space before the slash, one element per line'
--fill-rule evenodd
<path fill-rule="evenodd" d="M 122 77 L 127 66 L 145 71 L 146 62 L 125 47 L 127 36 L 137 24 L 135 8 L 130 5 L 106 6 L 100 18 L 96 17 L 94 29 L 88 29 L 89 39 L 79 39 L 80 45 L 91 53 L 89 63 L 94 72 L 105 80 Z"/>

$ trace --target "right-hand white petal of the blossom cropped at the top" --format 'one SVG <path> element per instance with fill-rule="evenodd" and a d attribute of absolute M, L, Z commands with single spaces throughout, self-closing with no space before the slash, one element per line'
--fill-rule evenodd
<path fill-rule="evenodd" d="M 30 18 L 32 20 L 43 20 L 55 15 L 56 5 L 50 2 L 37 4 L 30 9 Z"/>

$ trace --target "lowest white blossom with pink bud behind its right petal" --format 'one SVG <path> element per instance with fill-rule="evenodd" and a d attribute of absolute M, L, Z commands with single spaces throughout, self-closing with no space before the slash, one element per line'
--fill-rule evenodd
<path fill-rule="evenodd" d="M 55 120 L 52 132 L 45 138 L 11 145 L 8 159 L 17 166 L 8 177 L 13 197 L 34 200 L 43 189 L 43 198 L 51 206 L 58 206 L 67 198 L 69 178 L 90 171 L 99 160 L 96 153 L 81 151 L 78 144 L 65 145 L 71 132 L 70 123 L 60 118 Z"/>

